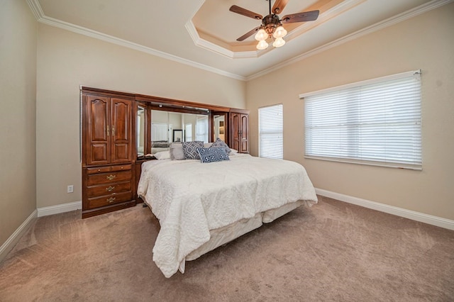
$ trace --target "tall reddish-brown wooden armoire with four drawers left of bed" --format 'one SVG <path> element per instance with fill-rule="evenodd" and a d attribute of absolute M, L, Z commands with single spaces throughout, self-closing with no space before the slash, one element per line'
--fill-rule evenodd
<path fill-rule="evenodd" d="M 134 96 L 82 89 L 82 218 L 135 206 Z"/>

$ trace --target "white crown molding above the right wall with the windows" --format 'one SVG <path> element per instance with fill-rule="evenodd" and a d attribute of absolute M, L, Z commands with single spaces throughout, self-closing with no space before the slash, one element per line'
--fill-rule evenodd
<path fill-rule="evenodd" d="M 383 28 L 387 28 L 388 26 L 393 26 L 394 24 L 397 24 L 399 22 L 405 21 L 409 18 L 413 18 L 415 16 L 421 15 L 421 13 L 426 13 L 427 11 L 431 11 L 432 9 L 437 9 L 440 6 L 443 6 L 445 4 L 449 4 L 450 2 L 453 2 L 454 0 L 433 0 L 430 2 L 427 2 L 426 4 L 421 4 L 420 6 L 410 9 L 409 11 L 405 11 L 404 13 L 399 13 L 396 16 L 393 16 L 391 18 L 387 18 L 384 21 L 380 21 L 378 23 L 373 24 L 372 26 L 368 26 L 367 28 L 362 28 L 361 30 L 356 31 L 355 33 L 351 33 L 350 35 L 345 35 L 342 38 L 338 38 L 337 40 L 334 40 L 333 42 L 326 43 L 325 45 L 321 45 L 320 47 L 316 47 L 313 50 L 309 50 L 308 52 L 304 52 L 301 55 L 298 55 L 297 57 L 293 57 L 290 60 L 284 61 L 280 64 L 277 64 L 273 67 L 263 69 L 261 72 L 257 72 L 255 74 L 252 74 L 248 77 L 245 77 L 245 81 L 250 81 L 252 79 L 257 79 L 258 77 L 262 77 L 265 74 L 269 74 L 270 72 L 274 72 L 277 69 L 281 69 L 282 67 L 292 65 L 296 62 L 299 62 L 301 60 L 304 60 L 308 57 L 311 57 L 312 55 L 319 54 L 321 52 L 324 52 L 326 50 L 329 50 L 333 47 L 336 47 L 338 45 L 342 45 L 343 43 L 347 43 L 351 40 L 355 40 L 357 38 L 360 38 L 364 35 L 368 35 L 370 33 L 374 33 L 377 30 L 381 30 Z"/>

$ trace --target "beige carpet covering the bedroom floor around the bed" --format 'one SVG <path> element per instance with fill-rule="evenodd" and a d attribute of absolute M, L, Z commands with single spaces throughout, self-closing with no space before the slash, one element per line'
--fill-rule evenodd
<path fill-rule="evenodd" d="M 454 232 L 319 198 L 166 279 L 136 206 L 38 218 L 0 264 L 0 301 L 454 301 Z"/>

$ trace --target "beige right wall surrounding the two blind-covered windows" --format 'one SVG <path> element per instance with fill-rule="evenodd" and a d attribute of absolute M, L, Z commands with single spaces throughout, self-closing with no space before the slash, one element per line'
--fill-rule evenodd
<path fill-rule="evenodd" d="M 314 186 L 454 220 L 454 4 L 350 41 L 248 82 L 251 152 L 258 107 L 284 104 L 284 158 L 306 167 Z M 423 171 L 304 159 L 309 91 L 422 69 Z M 281 89 L 262 89 L 277 86 Z"/>

